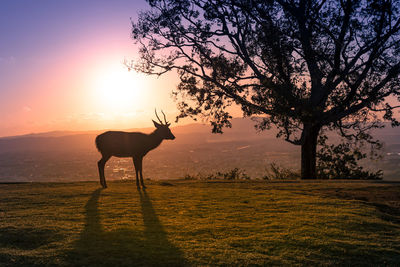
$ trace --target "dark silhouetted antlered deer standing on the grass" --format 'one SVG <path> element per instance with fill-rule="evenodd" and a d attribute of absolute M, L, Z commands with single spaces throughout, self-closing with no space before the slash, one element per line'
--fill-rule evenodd
<path fill-rule="evenodd" d="M 97 166 L 99 168 L 100 185 L 103 188 L 107 188 L 106 177 L 104 176 L 104 167 L 106 162 L 112 156 L 119 158 L 131 157 L 135 166 L 136 186 L 140 189 L 140 175 L 142 188 L 146 188 L 143 182 L 142 173 L 143 157 L 146 156 L 150 150 L 158 147 L 164 139 L 175 139 L 175 136 L 169 129 L 171 124 L 167 122 L 164 112 L 162 110 L 161 112 L 164 116 L 164 122 L 160 120 L 157 110 L 155 110 L 159 122 L 152 120 L 156 129 L 150 134 L 140 132 L 107 131 L 96 137 L 96 147 L 101 153 L 101 159 L 97 162 Z"/>

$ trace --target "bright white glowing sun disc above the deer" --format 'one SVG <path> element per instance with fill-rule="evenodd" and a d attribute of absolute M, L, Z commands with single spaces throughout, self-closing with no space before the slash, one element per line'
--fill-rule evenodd
<path fill-rule="evenodd" d="M 143 106 L 146 95 L 146 77 L 128 71 L 124 66 L 113 67 L 99 72 L 94 82 L 97 104 L 104 111 L 128 112 Z"/>

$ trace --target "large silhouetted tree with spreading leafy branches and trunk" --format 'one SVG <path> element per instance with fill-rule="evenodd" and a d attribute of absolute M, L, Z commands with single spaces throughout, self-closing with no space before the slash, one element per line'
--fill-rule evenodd
<path fill-rule="evenodd" d="M 140 60 L 176 70 L 177 117 L 230 127 L 227 107 L 261 116 L 261 130 L 301 145 L 301 177 L 316 177 L 323 128 L 372 140 L 400 101 L 399 1 L 148 0 L 132 22 Z"/>

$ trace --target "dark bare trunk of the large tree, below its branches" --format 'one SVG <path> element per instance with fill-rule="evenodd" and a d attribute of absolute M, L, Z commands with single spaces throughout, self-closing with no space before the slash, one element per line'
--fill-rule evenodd
<path fill-rule="evenodd" d="M 317 179 L 317 140 L 321 127 L 304 124 L 304 142 L 301 145 L 301 179 Z"/>

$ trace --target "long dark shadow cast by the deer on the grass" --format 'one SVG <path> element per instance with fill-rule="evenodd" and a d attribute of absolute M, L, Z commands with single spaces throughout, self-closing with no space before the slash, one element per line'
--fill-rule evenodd
<path fill-rule="evenodd" d="M 86 223 L 68 262 L 74 266 L 182 266 L 181 251 L 172 245 L 146 192 L 139 191 L 144 231 L 135 226 L 105 231 L 98 208 L 102 189 L 85 206 Z"/>

